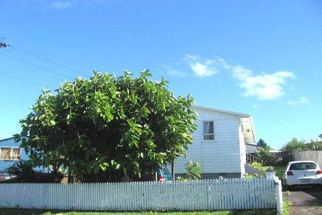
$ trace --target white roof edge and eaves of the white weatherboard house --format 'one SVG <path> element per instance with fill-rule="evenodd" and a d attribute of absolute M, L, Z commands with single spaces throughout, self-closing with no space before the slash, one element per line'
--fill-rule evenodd
<path fill-rule="evenodd" d="M 192 106 L 199 108 L 199 109 L 206 109 L 209 111 L 216 111 L 216 112 L 220 112 L 220 113 L 228 113 L 228 114 L 236 115 L 237 117 L 239 117 L 240 123 L 242 125 L 245 144 L 250 144 L 250 143 L 256 142 L 254 131 L 253 131 L 253 118 L 251 117 L 251 115 L 246 114 L 246 113 L 238 113 L 238 112 L 234 112 L 234 111 L 213 109 L 213 108 L 210 108 L 207 106 L 200 106 L 200 105 L 196 105 L 196 104 L 193 104 Z"/>

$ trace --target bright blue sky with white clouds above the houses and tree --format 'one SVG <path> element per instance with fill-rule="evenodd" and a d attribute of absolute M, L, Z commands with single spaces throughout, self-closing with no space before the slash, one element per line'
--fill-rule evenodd
<path fill-rule="evenodd" d="M 273 148 L 322 133 L 321 1 L 2 0 L 0 8 L 0 38 L 12 45 L 0 49 L 0 139 L 21 131 L 42 86 L 123 69 L 150 69 L 175 95 L 253 115 L 256 139 Z"/>

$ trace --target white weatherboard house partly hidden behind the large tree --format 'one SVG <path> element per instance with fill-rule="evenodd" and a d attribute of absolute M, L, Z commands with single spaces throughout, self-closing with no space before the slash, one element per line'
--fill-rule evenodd
<path fill-rule="evenodd" d="M 185 174 L 187 161 L 198 162 L 203 179 L 242 177 L 245 174 L 246 145 L 255 143 L 251 115 L 194 106 L 199 117 L 195 121 L 193 144 L 187 158 L 175 161 L 176 177 Z"/>

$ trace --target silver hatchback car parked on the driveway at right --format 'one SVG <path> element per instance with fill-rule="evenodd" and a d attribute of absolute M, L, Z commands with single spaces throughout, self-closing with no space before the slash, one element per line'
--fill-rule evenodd
<path fill-rule="evenodd" d="M 322 185 L 322 170 L 314 161 L 289 162 L 283 177 L 288 190 L 295 185 Z"/>

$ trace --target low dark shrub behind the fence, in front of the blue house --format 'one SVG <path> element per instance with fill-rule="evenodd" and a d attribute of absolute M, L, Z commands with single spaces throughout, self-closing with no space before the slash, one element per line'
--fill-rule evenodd
<path fill-rule="evenodd" d="M 17 161 L 7 170 L 14 178 L 5 183 L 60 183 L 63 178 L 62 174 L 57 172 L 36 172 L 27 161 Z"/>

